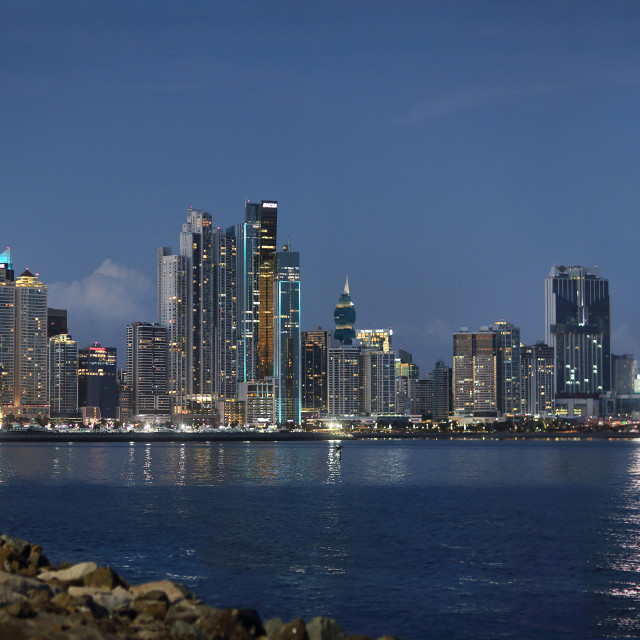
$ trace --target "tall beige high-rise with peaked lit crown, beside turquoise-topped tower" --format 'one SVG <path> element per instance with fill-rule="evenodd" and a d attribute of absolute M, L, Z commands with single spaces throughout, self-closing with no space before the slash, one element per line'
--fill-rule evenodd
<path fill-rule="evenodd" d="M 16 278 L 13 413 L 49 417 L 47 285 L 28 269 Z"/>

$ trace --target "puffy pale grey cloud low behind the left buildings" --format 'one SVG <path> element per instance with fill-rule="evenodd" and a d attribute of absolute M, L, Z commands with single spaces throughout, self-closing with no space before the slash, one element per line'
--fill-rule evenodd
<path fill-rule="evenodd" d="M 122 345 L 129 322 L 155 320 L 154 297 L 144 273 L 109 258 L 82 280 L 49 285 L 49 306 L 67 309 L 69 332 L 81 345 Z"/>

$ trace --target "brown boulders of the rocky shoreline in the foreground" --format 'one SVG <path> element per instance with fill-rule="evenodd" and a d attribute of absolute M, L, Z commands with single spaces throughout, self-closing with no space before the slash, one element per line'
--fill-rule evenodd
<path fill-rule="evenodd" d="M 262 622 L 254 609 L 217 609 L 169 580 L 130 585 L 94 562 L 57 567 L 42 547 L 0 536 L 0 639 L 372 640 L 333 619 Z M 398 640 L 385 635 L 378 640 Z"/>

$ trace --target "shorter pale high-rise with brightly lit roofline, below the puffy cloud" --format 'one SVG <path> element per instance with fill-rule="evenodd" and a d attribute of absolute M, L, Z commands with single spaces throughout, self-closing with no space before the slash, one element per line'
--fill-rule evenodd
<path fill-rule="evenodd" d="M 49 338 L 49 403 L 52 416 L 78 412 L 78 343 L 67 333 Z"/>

